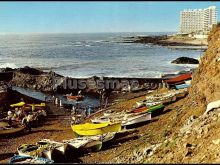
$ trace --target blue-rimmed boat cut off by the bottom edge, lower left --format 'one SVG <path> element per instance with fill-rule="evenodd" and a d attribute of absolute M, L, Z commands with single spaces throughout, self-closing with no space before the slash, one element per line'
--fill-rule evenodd
<path fill-rule="evenodd" d="M 15 155 L 9 160 L 9 164 L 52 164 L 53 160 L 34 156 Z"/>

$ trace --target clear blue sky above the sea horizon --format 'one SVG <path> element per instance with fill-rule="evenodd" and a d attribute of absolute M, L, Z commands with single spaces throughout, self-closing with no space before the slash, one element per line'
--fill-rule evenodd
<path fill-rule="evenodd" d="M 215 1 L 1 1 L 0 33 L 177 32 L 181 10 L 212 5 L 220 9 Z"/>

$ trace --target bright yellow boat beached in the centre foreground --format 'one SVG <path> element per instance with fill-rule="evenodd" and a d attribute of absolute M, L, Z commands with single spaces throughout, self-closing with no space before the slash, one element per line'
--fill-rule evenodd
<path fill-rule="evenodd" d="M 102 135 L 108 132 L 118 132 L 121 131 L 121 122 L 111 123 L 85 123 L 71 125 L 71 128 L 74 133 L 78 136 L 93 136 L 93 135 Z"/>

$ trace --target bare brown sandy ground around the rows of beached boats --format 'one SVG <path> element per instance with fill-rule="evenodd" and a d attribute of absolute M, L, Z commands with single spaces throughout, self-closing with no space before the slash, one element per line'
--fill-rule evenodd
<path fill-rule="evenodd" d="M 116 103 L 109 109 L 118 111 L 130 109 L 136 101 L 143 100 L 146 95 L 147 92 L 121 94 L 116 99 Z M 113 141 L 104 144 L 101 151 L 81 155 L 77 157 L 77 160 L 72 153 L 70 157 L 74 159 L 64 160 L 63 162 L 112 163 L 118 159 L 121 160 L 121 163 L 129 163 L 135 148 L 144 148 L 150 144 L 164 141 L 169 135 L 169 127 L 174 123 L 173 118 L 176 114 L 169 110 L 169 106 L 165 110 L 165 113 L 155 116 L 152 121 L 136 126 L 137 132 L 115 138 Z M 162 125 L 163 127 L 161 127 Z M 60 115 L 49 115 L 37 128 L 33 128 L 31 133 L 14 137 L 1 137 L 0 163 L 8 163 L 10 157 L 16 153 L 17 147 L 21 144 L 35 144 L 44 138 L 62 141 L 73 137 L 73 131 L 70 128 L 70 114 L 63 110 Z"/>

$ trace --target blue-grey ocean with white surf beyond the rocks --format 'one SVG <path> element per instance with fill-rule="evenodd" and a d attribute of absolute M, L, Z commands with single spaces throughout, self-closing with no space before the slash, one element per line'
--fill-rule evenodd
<path fill-rule="evenodd" d="M 76 78 L 91 76 L 159 77 L 196 65 L 173 65 L 186 56 L 198 59 L 198 50 L 120 43 L 129 36 L 167 33 L 1 34 L 0 68 L 24 66 L 55 71 Z"/>

